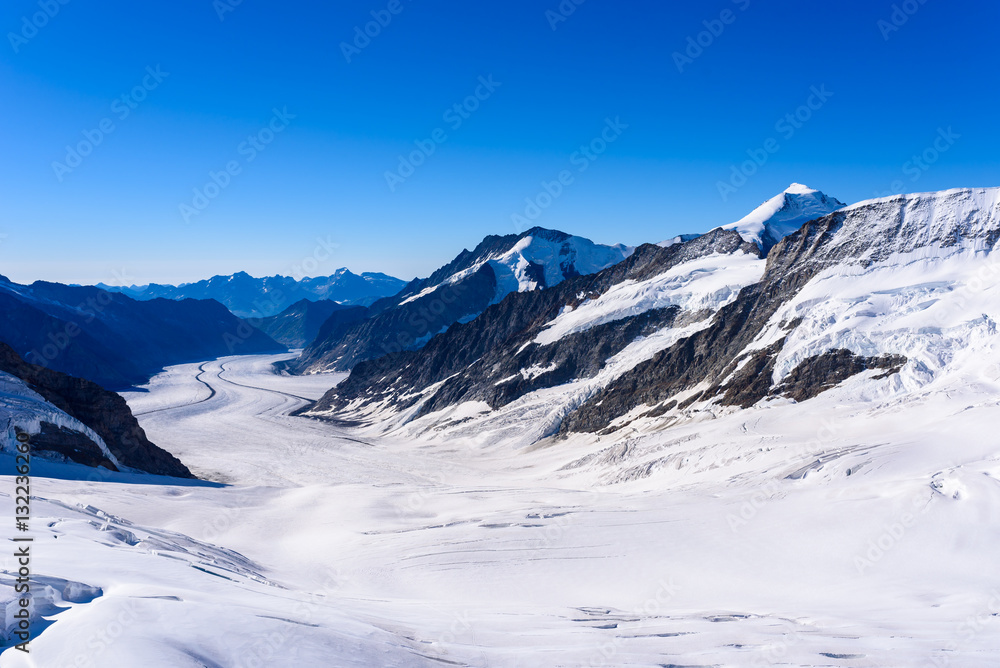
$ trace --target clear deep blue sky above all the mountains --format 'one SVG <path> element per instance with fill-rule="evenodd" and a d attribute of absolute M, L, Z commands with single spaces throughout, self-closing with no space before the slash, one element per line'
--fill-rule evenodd
<path fill-rule="evenodd" d="M 845 202 L 1000 185 L 985 0 L 64 1 L 0 9 L 0 273 L 17 281 L 308 258 L 412 278 L 520 231 L 514 214 L 638 244 L 792 182 Z"/>

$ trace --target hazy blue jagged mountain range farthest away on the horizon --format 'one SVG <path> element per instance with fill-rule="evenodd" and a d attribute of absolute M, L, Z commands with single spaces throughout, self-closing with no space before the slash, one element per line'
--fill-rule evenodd
<path fill-rule="evenodd" d="M 367 306 L 381 297 L 396 294 L 405 285 L 405 281 L 385 274 L 366 272 L 359 276 L 347 269 L 338 269 L 330 276 L 300 281 L 290 276 L 254 278 L 241 271 L 178 286 L 153 283 L 128 288 L 104 284 L 97 287 L 139 300 L 214 299 L 241 318 L 268 318 L 303 299 Z"/>

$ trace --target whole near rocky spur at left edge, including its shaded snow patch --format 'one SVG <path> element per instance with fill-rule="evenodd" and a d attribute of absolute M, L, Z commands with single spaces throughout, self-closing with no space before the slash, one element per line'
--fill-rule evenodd
<path fill-rule="evenodd" d="M 193 478 L 176 457 L 149 442 L 119 395 L 82 378 L 26 363 L 0 343 L 0 448 L 15 452 L 27 434 L 32 456 L 112 471 Z"/>

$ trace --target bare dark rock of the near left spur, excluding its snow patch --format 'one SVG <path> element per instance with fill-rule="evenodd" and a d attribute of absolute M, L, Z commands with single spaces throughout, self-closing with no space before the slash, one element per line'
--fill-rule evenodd
<path fill-rule="evenodd" d="M 56 408 L 93 429 L 123 466 L 175 478 L 194 477 L 176 457 L 150 443 L 128 404 L 114 392 L 89 380 L 28 364 L 3 343 L 0 343 L 0 371 L 17 376 Z M 92 463 L 95 457 L 93 450 L 81 444 L 76 437 L 62 434 L 58 429 L 44 432 L 43 429 L 42 442 L 51 444 L 53 449 L 58 447 L 77 453 L 75 456 L 80 459 L 67 454 L 74 461 L 95 465 Z M 91 445 L 97 448 L 93 443 Z M 113 468 L 110 462 L 105 462 L 108 468 Z M 105 464 L 97 462 L 97 465 Z"/>

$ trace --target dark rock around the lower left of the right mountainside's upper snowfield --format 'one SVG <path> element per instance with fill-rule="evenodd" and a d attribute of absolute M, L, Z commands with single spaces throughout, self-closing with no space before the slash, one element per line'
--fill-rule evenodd
<path fill-rule="evenodd" d="M 377 402 L 386 398 L 407 408 L 418 401 L 417 392 L 441 381 L 445 382 L 427 399 L 422 413 L 464 401 L 498 407 L 537 389 L 592 377 L 637 337 L 674 324 L 678 309 L 647 311 L 546 346 L 533 343 L 561 309 L 579 306 L 624 280 L 642 281 L 705 255 L 736 252 L 755 253 L 756 247 L 735 232 L 715 230 L 685 244 L 640 246 L 616 265 L 548 290 L 509 294 L 475 320 L 452 325 L 420 350 L 358 364 L 314 410 L 340 409 L 356 399 Z M 541 372 L 521 373 L 532 367 Z M 407 395 L 408 399 L 400 398 Z"/>

